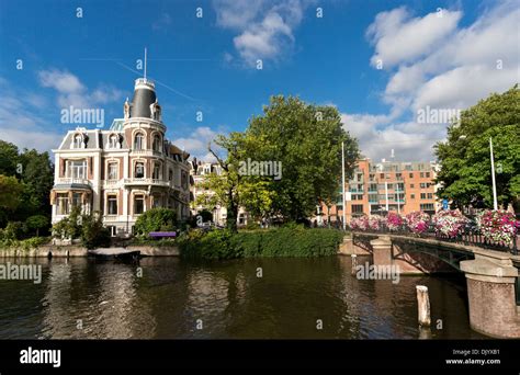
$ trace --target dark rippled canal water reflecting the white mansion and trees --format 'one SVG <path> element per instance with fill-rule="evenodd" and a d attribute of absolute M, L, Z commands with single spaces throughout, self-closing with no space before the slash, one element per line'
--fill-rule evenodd
<path fill-rule="evenodd" d="M 0 280 L 0 339 L 485 338 L 470 328 L 461 274 L 358 280 L 340 255 L 9 261 L 41 264 L 42 282 Z M 417 325 L 418 284 L 429 287 L 430 331 Z"/>

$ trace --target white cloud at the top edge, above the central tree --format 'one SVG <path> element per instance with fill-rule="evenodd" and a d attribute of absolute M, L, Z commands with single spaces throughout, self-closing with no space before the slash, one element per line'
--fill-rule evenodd
<path fill-rule="evenodd" d="M 306 4 L 305 0 L 214 1 L 217 25 L 239 33 L 233 42 L 248 65 L 257 59 L 279 60 L 292 48 Z"/>

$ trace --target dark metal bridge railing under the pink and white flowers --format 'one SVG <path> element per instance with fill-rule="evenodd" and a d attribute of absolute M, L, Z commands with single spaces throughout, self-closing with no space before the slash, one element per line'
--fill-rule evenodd
<path fill-rule="evenodd" d="M 520 236 L 517 234 L 511 243 L 505 243 L 499 241 L 491 241 L 487 239 L 475 226 L 466 226 L 464 230 L 455 237 L 449 237 L 440 234 L 436 230 L 436 227 L 432 223 L 429 224 L 428 229 L 415 234 L 411 232 L 405 225 L 396 229 L 389 229 L 387 225 L 381 224 L 378 229 L 353 229 L 353 232 L 366 232 L 366 234 L 388 234 L 388 235 L 399 235 L 408 237 L 419 237 L 419 238 L 431 238 L 440 241 L 461 243 L 467 246 L 475 246 L 483 249 L 496 250 L 496 251 L 506 251 L 512 254 L 518 254 L 520 248 Z"/>

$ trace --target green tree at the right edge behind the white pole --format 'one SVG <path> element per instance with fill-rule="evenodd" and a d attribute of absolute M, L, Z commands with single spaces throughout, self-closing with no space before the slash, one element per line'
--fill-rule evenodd
<path fill-rule="evenodd" d="M 516 84 L 465 110 L 434 146 L 441 163 L 440 197 L 462 207 L 477 202 L 493 207 L 489 138 L 493 138 L 497 198 L 501 206 L 520 196 L 520 90 Z"/>

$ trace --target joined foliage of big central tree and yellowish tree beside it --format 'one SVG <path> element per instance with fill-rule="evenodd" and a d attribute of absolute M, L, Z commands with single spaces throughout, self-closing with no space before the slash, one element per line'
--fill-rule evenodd
<path fill-rule="evenodd" d="M 246 132 L 216 139 L 227 152 L 226 158 L 219 158 L 212 150 L 224 173 L 206 179 L 206 186 L 215 194 L 201 197 L 201 202 L 228 207 L 229 228 L 236 226 L 239 206 L 256 219 L 295 221 L 308 217 L 319 201 L 337 200 L 342 141 L 346 173 L 351 175 L 359 157 L 358 143 L 343 129 L 337 109 L 294 96 L 272 96 L 263 114 L 249 121 Z M 251 160 L 280 163 L 281 179 L 241 173 L 241 163 Z"/>

